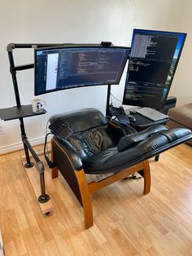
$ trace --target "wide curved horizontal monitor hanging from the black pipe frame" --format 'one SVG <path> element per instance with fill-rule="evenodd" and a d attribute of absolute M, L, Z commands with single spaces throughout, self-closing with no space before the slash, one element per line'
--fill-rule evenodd
<path fill-rule="evenodd" d="M 129 51 L 129 47 L 77 44 L 37 48 L 34 51 L 35 95 L 118 84 Z"/>

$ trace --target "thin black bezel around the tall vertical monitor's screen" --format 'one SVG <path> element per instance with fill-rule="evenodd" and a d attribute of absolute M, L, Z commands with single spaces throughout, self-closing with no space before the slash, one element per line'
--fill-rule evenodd
<path fill-rule="evenodd" d="M 167 34 L 172 34 L 172 35 L 183 35 L 183 41 L 182 41 L 182 44 L 181 44 L 181 48 L 180 48 L 180 51 L 179 51 L 179 55 L 177 57 L 177 61 L 176 61 L 176 64 L 175 64 L 175 68 L 173 70 L 173 73 L 172 73 L 172 77 L 171 77 L 171 80 L 169 82 L 169 87 L 168 87 L 168 91 L 167 91 L 167 94 L 164 96 L 164 99 L 161 100 L 160 103 L 157 103 L 157 108 L 155 109 L 163 109 L 164 108 L 164 104 L 166 102 L 166 99 L 168 98 L 168 93 L 169 93 L 169 90 L 172 86 L 172 80 L 174 78 L 174 75 L 176 73 L 176 70 L 177 70 L 177 64 L 179 63 L 179 60 L 180 60 L 180 57 L 181 57 L 181 52 L 182 52 L 182 49 L 183 49 L 183 46 L 185 44 L 185 39 L 186 39 L 186 36 L 187 36 L 187 33 L 180 33 L 180 32 L 172 32 L 172 31 L 163 31 L 163 30 L 151 30 L 151 29 L 133 29 L 133 37 L 132 37 L 132 42 L 131 42 L 131 49 L 130 49 L 130 53 L 129 53 L 129 64 L 128 64 L 128 68 L 127 68 L 127 73 L 126 73 L 126 80 L 125 80 L 125 86 L 124 86 L 124 95 L 123 95 L 123 102 L 122 104 L 124 105 L 132 105 L 132 106 L 138 106 L 138 105 L 133 105 L 133 104 L 130 104 L 129 103 L 129 99 L 125 99 L 125 95 L 126 95 L 126 85 L 127 85 L 127 77 L 128 77 L 128 73 L 129 73 L 129 65 L 130 65 L 130 60 L 131 60 L 131 54 L 132 54 L 132 50 L 133 50 L 133 39 L 134 39 L 134 36 L 135 36 L 135 33 L 136 32 L 147 32 L 147 33 L 167 33 Z M 158 105 L 159 104 L 159 105 Z M 138 106 L 140 107 L 140 106 Z M 147 107 L 147 106 L 143 106 L 143 107 Z M 153 108 L 153 107 L 149 107 L 149 108 Z"/>

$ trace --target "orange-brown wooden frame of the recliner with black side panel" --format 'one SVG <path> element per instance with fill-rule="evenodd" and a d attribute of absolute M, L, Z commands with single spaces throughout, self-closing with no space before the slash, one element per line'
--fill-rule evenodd
<path fill-rule="evenodd" d="M 97 192 L 99 189 L 114 183 L 120 179 L 127 178 L 130 174 L 134 174 L 139 170 L 143 170 L 144 190 L 147 194 L 151 189 L 151 170 L 149 161 L 142 161 L 141 163 L 124 169 L 118 173 L 111 174 L 111 176 L 97 181 L 88 183 L 85 171 L 83 169 L 76 170 L 69 159 L 67 152 L 62 146 L 53 138 L 51 140 L 51 156 L 52 162 L 56 167 L 52 169 L 52 178 L 58 177 L 58 170 L 63 174 L 64 179 L 72 188 L 77 200 L 81 203 L 84 210 L 85 228 L 93 226 L 93 210 L 91 205 L 91 194 Z"/>

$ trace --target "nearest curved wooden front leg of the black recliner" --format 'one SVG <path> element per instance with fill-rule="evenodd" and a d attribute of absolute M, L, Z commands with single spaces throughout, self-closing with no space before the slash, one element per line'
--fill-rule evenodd
<path fill-rule="evenodd" d="M 91 196 L 89 192 L 87 179 L 85 177 L 84 170 L 75 170 L 75 174 L 81 192 L 81 200 L 85 218 L 85 228 L 89 228 L 93 226 L 94 221 L 93 210 L 91 205 Z"/>

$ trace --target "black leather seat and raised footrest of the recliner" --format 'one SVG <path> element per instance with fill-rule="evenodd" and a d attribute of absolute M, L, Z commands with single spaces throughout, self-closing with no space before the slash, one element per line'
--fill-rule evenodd
<path fill-rule="evenodd" d="M 136 143 L 132 148 L 122 152 L 119 152 L 117 147 L 107 148 L 98 152 L 82 161 L 83 168 L 87 174 L 118 172 L 154 157 L 168 148 L 185 142 L 189 138 L 191 138 L 189 129 L 166 130 L 164 133 Z"/>

